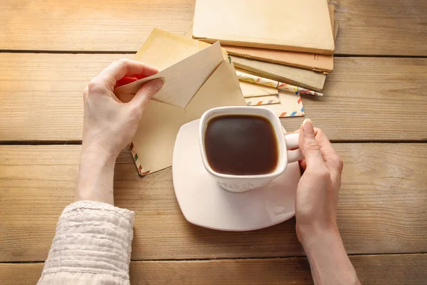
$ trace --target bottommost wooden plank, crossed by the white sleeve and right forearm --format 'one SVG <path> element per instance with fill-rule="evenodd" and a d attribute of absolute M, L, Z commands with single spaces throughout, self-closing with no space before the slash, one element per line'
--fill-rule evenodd
<path fill-rule="evenodd" d="M 425 284 L 427 254 L 350 257 L 359 280 L 369 284 Z M 36 284 L 43 264 L 0 264 L 0 283 Z M 304 257 L 206 261 L 131 261 L 130 284 L 312 284 Z"/>

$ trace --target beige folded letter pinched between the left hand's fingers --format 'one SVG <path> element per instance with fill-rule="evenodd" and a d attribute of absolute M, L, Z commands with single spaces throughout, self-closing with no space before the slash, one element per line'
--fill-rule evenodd
<path fill-rule="evenodd" d="M 217 42 L 165 68 L 154 76 L 116 88 L 115 93 L 119 97 L 126 96 L 126 94 L 135 95 L 147 81 L 164 78 L 164 86 L 152 99 L 185 108 L 222 61 L 221 46 Z"/>

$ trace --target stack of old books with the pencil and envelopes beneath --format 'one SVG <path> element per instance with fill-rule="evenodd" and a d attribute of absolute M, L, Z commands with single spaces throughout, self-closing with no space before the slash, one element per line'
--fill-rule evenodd
<path fill-rule="evenodd" d="M 248 105 L 304 115 L 300 94 L 323 95 L 333 70 L 334 7 L 325 0 L 196 0 L 193 38 L 221 46 Z"/>

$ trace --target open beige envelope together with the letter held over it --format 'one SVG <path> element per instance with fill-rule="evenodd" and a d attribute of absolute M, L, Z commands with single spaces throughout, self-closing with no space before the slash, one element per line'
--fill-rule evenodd
<path fill-rule="evenodd" d="M 144 110 L 130 144 L 140 175 L 172 165 L 175 138 L 184 123 L 200 118 L 210 108 L 246 105 L 236 71 L 218 43 L 210 45 L 154 29 L 135 60 L 154 66 L 159 73 L 117 88 L 120 100 L 131 100 L 148 80 L 165 80 Z"/>

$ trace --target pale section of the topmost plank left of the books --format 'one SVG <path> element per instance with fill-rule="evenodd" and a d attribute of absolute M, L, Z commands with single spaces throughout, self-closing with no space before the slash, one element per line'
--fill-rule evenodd
<path fill-rule="evenodd" d="M 194 0 L 6 0 L 0 11 L 0 49 L 136 52 L 153 28 L 184 33 Z"/>

